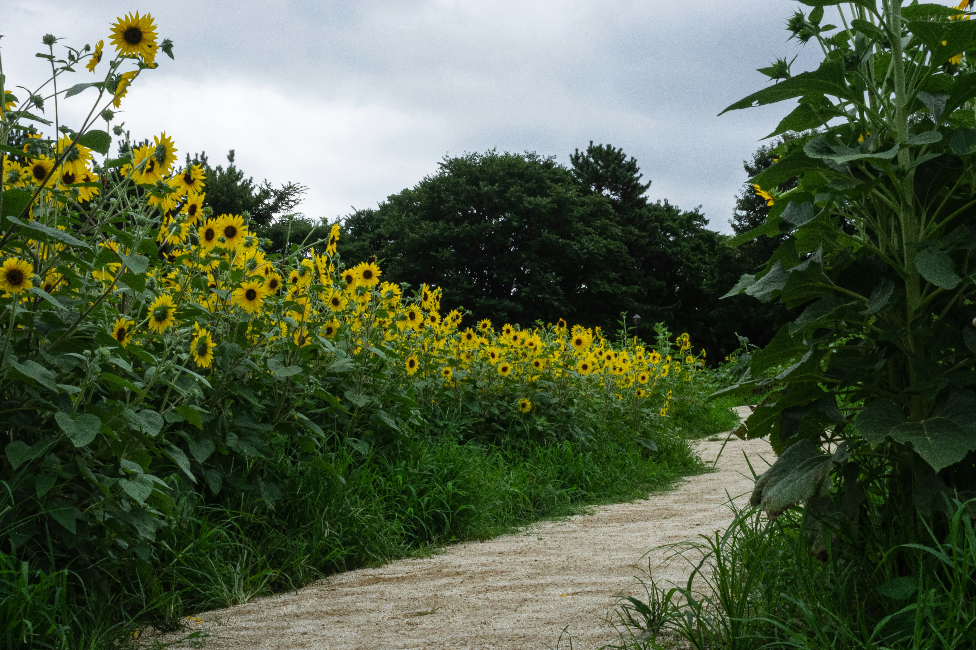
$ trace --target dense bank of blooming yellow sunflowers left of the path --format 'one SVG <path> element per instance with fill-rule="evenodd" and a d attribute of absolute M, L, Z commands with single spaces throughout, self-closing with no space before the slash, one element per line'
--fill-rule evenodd
<path fill-rule="evenodd" d="M 466 325 L 441 287 L 345 264 L 339 224 L 267 254 L 247 214 L 206 207 L 205 173 L 165 133 L 132 142 L 119 125 L 109 157 L 95 119 L 110 124 L 172 43 L 139 14 L 108 39 L 58 58 L 46 36 L 52 73 L 33 90 L 0 75 L 3 554 L 89 584 L 148 576 L 181 495 L 273 508 L 272 464 L 343 480 L 330 440 L 368 452 L 464 412 L 486 433 L 623 423 L 650 447 L 698 381 L 687 334 L 662 329 L 654 348 L 561 321 Z M 103 74 L 64 90 L 81 67 Z M 61 125 L 61 102 L 88 95 L 77 130 Z"/>

